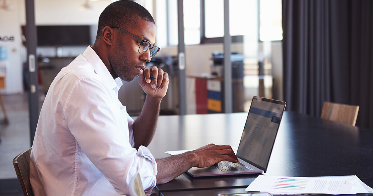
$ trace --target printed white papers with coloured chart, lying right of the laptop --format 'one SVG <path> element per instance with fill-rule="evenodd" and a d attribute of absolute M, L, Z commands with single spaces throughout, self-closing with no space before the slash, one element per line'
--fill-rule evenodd
<path fill-rule="evenodd" d="M 352 194 L 368 193 L 370 188 L 357 176 L 282 177 L 259 175 L 245 190 L 272 194 Z M 371 189 L 371 188 L 370 188 Z"/>

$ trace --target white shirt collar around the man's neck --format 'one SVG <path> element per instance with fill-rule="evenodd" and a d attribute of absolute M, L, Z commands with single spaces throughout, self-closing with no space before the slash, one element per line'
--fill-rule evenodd
<path fill-rule="evenodd" d="M 102 80 L 104 81 L 104 83 L 107 85 L 109 89 L 114 89 L 118 87 L 118 82 L 116 82 L 113 79 L 109 70 L 107 70 L 105 64 L 102 62 L 100 57 L 96 54 L 96 52 L 94 52 L 91 46 L 88 46 L 87 49 L 85 49 L 83 56 L 88 60 L 88 62 L 90 62 L 96 74 L 102 78 Z M 122 83 L 122 81 L 120 81 L 120 83 Z M 121 85 L 122 84 L 120 84 L 120 86 Z"/>

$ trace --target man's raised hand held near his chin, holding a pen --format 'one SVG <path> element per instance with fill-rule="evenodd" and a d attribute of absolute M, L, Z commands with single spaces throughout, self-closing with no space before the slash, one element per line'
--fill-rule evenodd
<path fill-rule="evenodd" d="M 150 76 L 155 79 L 150 80 Z M 157 66 L 145 67 L 139 78 L 139 84 L 144 92 L 154 98 L 163 98 L 166 95 L 169 81 L 168 74 Z"/>

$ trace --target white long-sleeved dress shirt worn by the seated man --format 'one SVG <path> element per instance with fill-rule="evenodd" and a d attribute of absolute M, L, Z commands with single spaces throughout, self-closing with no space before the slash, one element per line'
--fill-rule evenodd
<path fill-rule="evenodd" d="M 118 99 L 121 85 L 91 47 L 61 69 L 32 144 L 35 195 L 128 195 L 137 172 L 150 195 L 157 164 L 146 147 L 134 148 L 134 120 Z"/>

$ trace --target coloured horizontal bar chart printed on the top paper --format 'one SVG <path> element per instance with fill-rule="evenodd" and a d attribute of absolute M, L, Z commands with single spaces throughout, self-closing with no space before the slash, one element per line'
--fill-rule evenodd
<path fill-rule="evenodd" d="M 295 178 L 277 178 L 272 184 L 272 189 L 282 192 L 282 190 L 303 190 L 308 180 L 297 180 Z"/>

